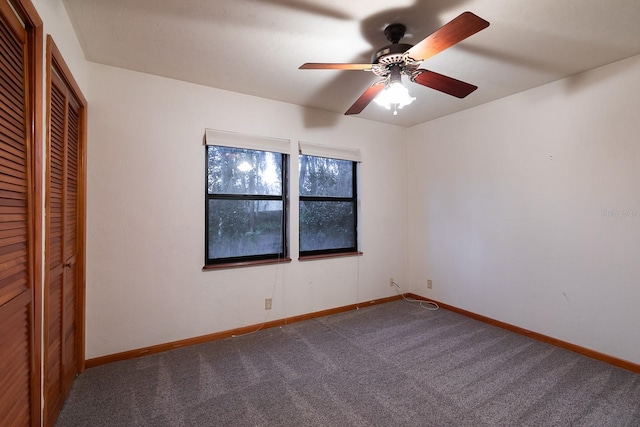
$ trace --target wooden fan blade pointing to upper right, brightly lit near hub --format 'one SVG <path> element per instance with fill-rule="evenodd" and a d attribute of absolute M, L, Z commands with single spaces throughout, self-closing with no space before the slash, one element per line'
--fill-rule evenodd
<path fill-rule="evenodd" d="M 413 46 L 406 53 L 414 61 L 424 61 L 478 31 L 484 30 L 488 26 L 489 23 L 484 19 L 471 12 L 464 12 Z"/>

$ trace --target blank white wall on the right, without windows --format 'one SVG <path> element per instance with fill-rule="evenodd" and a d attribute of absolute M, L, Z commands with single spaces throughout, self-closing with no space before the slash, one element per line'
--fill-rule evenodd
<path fill-rule="evenodd" d="M 640 56 L 410 129 L 412 289 L 640 363 L 638 76 Z"/>

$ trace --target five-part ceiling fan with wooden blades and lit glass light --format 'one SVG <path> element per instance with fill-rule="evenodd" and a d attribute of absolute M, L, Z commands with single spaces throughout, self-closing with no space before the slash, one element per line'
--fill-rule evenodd
<path fill-rule="evenodd" d="M 347 110 L 346 115 L 362 112 L 385 88 L 387 91 L 391 91 L 394 88 L 394 90 L 404 90 L 405 96 L 409 97 L 406 88 L 402 87 L 402 75 L 408 76 L 412 82 L 457 98 L 464 98 L 478 87 L 418 67 L 425 59 L 442 52 L 488 26 L 489 22 L 484 19 L 471 12 L 464 12 L 418 44 L 410 45 L 399 43 L 400 39 L 404 37 L 406 27 L 403 24 L 391 24 L 384 30 L 384 35 L 391 44 L 378 49 L 371 56 L 371 64 L 308 62 L 299 68 L 301 70 L 363 70 L 372 71 L 375 75 L 383 77 L 382 80 L 376 81 L 364 91 L 360 98 Z M 385 94 L 383 93 L 382 95 Z M 387 102 L 386 107 L 390 108 L 390 105 L 393 105 L 394 114 L 397 114 L 397 108 L 408 105 L 414 99 L 409 97 L 404 101 Z M 384 100 L 380 102 L 384 103 Z"/>

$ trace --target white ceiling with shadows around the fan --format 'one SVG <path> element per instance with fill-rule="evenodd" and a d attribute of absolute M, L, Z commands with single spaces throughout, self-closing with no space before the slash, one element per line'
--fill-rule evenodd
<path fill-rule="evenodd" d="M 379 78 L 301 64 L 370 62 L 393 22 L 416 44 L 467 10 L 489 21 L 422 64 L 477 91 L 461 100 L 407 81 L 417 100 L 397 116 L 375 103 L 358 116 L 401 126 L 640 53 L 639 0 L 63 1 L 90 61 L 336 113 Z"/>

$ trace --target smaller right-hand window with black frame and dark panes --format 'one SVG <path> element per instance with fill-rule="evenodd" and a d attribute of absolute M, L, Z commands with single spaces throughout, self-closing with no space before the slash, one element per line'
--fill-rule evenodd
<path fill-rule="evenodd" d="M 310 154 L 299 160 L 300 256 L 357 252 L 357 163 Z"/>

